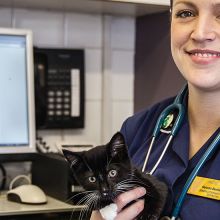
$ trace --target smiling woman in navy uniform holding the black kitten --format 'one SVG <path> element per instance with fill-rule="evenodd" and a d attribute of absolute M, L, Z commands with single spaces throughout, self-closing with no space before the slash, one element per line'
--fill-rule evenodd
<path fill-rule="evenodd" d="M 154 174 L 167 183 L 169 197 L 163 215 L 171 216 L 192 169 L 220 132 L 220 0 L 171 1 L 171 50 L 173 59 L 188 84 L 183 99 L 186 109 L 183 123 Z M 158 116 L 174 99 L 162 101 L 128 118 L 122 133 L 130 156 L 137 166 L 144 157 Z M 157 162 L 167 142 L 167 134 L 157 138 L 146 171 Z M 220 150 L 199 171 L 194 189 L 186 195 L 179 217 L 183 220 L 220 219 Z M 137 188 L 116 199 L 115 220 L 135 219 L 143 201 L 121 209 L 145 193 Z M 91 219 L 102 219 L 99 212 Z"/>

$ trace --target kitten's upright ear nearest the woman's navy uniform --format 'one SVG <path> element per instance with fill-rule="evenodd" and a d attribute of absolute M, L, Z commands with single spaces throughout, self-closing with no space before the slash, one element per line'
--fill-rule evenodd
<path fill-rule="evenodd" d="M 125 144 L 125 139 L 122 133 L 117 132 L 109 142 L 109 150 L 111 157 L 120 156 L 121 158 L 128 157 L 128 151 Z"/>

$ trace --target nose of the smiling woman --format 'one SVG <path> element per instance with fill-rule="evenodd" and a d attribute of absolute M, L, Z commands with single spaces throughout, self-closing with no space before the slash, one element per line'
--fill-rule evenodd
<path fill-rule="evenodd" d="M 198 16 L 196 19 L 191 38 L 197 42 L 212 41 L 216 38 L 216 30 L 214 28 L 215 20 L 208 16 Z"/>

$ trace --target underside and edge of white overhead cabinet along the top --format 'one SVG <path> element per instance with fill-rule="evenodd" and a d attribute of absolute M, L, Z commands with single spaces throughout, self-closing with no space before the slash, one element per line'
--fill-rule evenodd
<path fill-rule="evenodd" d="M 141 16 L 166 11 L 170 0 L 1 0 L 0 7 Z"/>

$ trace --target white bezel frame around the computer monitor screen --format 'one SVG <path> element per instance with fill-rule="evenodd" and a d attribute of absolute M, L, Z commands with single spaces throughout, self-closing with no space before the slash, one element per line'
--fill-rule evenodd
<path fill-rule="evenodd" d="M 33 34 L 31 30 L 0 28 L 0 35 L 25 36 L 26 38 L 26 78 L 28 101 L 28 131 L 29 144 L 21 146 L 1 146 L 0 154 L 19 154 L 36 152 L 36 127 L 34 103 L 34 64 L 33 64 Z"/>

